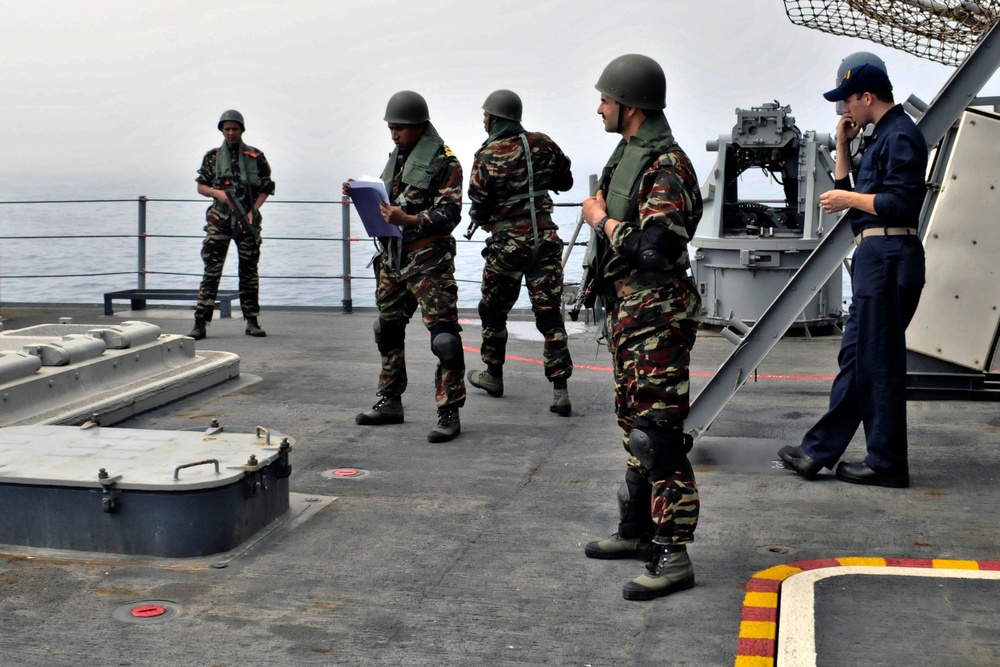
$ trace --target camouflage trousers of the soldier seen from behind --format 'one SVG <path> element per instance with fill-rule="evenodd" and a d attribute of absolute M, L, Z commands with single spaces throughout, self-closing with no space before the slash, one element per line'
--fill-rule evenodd
<path fill-rule="evenodd" d="M 483 363 L 501 366 L 507 356 L 507 315 L 521 293 L 523 278 L 535 314 L 535 326 L 545 337 L 542 362 L 545 377 L 565 380 L 573 374 L 573 360 L 562 317 L 563 244 L 555 229 L 539 230 L 538 251 L 527 234 L 494 231 L 483 249 L 482 300 Z"/>

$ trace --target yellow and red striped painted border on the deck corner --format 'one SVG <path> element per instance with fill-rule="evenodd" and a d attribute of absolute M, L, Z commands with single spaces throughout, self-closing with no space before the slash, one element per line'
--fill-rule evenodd
<path fill-rule="evenodd" d="M 932 558 L 822 558 L 762 570 L 747 582 L 735 667 L 773 667 L 778 648 L 781 584 L 800 572 L 831 567 L 940 568 L 1000 572 L 1000 561 Z"/>

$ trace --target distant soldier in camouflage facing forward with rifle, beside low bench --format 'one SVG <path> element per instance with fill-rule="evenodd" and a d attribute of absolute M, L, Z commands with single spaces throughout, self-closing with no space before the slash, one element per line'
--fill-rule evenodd
<path fill-rule="evenodd" d="M 211 197 L 214 201 L 205 214 L 206 237 L 201 246 L 201 258 L 205 262 L 205 275 L 198 290 L 198 305 L 194 311 L 194 328 L 188 335 L 201 340 L 207 335 L 206 328 L 212 321 L 215 297 L 219 292 L 222 267 L 226 263 L 229 243 L 236 241 L 239 254 L 240 307 L 246 320 L 248 336 L 263 337 L 267 334 L 260 328 L 260 279 L 257 263 L 260 261 L 260 229 L 262 217 L 260 207 L 274 194 L 271 180 L 271 165 L 264 153 L 243 143 L 246 125 L 239 111 L 230 109 L 219 119 L 219 131 L 225 141 L 219 148 L 205 153 L 198 170 L 198 194 Z M 234 202 L 227 196 L 229 190 L 242 206 L 240 213 Z"/>

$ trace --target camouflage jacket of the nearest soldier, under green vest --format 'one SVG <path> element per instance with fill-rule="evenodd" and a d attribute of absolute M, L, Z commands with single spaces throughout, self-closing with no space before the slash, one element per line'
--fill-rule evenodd
<path fill-rule="evenodd" d="M 660 136 L 647 138 L 660 147 L 660 152 L 639 177 L 638 190 L 629 206 L 630 211 L 635 211 L 633 219 L 622 220 L 610 239 L 610 253 L 602 272 L 606 285 L 629 278 L 634 288 L 642 289 L 688 269 L 688 243 L 694 238 L 702 214 L 701 189 L 694 166 L 674 143 L 666 119 L 662 126 Z M 653 275 L 636 268 L 637 251 L 646 244 L 655 244 L 664 253 L 670 264 L 667 271 Z"/>

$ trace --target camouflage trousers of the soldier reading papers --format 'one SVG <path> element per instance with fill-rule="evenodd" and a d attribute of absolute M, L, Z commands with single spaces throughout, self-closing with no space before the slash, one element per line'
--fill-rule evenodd
<path fill-rule="evenodd" d="M 454 248 L 454 245 L 452 245 Z M 421 251 L 426 254 L 427 250 Z M 458 324 L 458 283 L 455 282 L 454 254 L 437 261 L 426 262 L 419 270 L 400 273 L 383 261 L 385 254 L 375 259 L 375 304 L 378 306 L 379 352 L 382 370 L 378 389 L 382 394 L 400 395 L 406 391 L 406 325 L 420 306 L 424 326 L 431 332 L 450 333 L 458 337 L 456 359 L 447 367 L 440 359 L 434 370 L 434 401 L 439 408 L 465 405 L 465 355 L 461 349 L 462 327 Z M 432 348 L 433 349 L 433 348 Z"/>

